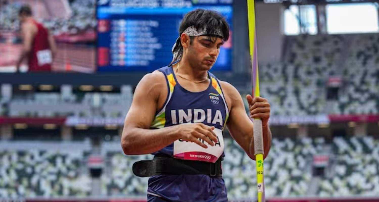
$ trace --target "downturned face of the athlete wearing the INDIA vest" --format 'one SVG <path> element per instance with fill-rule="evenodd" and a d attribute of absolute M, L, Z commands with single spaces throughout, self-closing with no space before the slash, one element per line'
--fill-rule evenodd
<path fill-rule="evenodd" d="M 196 36 L 192 43 L 186 43 L 188 46 L 184 52 L 191 67 L 210 70 L 217 60 L 222 44 L 224 42 L 219 37 Z"/>

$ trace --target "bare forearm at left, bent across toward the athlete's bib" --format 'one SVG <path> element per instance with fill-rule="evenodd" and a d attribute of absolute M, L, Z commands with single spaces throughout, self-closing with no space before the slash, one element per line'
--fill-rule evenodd
<path fill-rule="evenodd" d="M 157 152 L 177 140 L 175 126 L 160 129 L 124 128 L 121 146 L 125 154 Z"/>

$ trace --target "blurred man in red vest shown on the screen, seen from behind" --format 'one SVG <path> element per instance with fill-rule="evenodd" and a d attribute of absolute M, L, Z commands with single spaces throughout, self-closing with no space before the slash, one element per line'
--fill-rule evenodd
<path fill-rule="evenodd" d="M 19 20 L 23 45 L 17 60 L 16 71 L 19 71 L 25 58 L 28 60 L 30 72 L 51 71 L 56 53 L 56 44 L 52 34 L 33 19 L 31 9 L 27 5 L 20 8 Z"/>

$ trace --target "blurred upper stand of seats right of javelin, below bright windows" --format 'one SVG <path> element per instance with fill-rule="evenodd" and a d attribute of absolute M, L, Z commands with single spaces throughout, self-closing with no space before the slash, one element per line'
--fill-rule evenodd
<path fill-rule="evenodd" d="M 261 95 L 273 115 L 377 114 L 379 35 L 287 36 L 280 63 L 260 65 Z M 326 85 L 339 75 L 336 105 L 326 111 Z M 359 106 L 359 107 L 358 107 Z"/>

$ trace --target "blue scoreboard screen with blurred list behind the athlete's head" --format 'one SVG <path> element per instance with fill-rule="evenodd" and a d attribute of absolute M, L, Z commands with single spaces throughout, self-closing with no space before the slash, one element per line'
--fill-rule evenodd
<path fill-rule="evenodd" d="M 97 71 L 153 71 L 168 65 L 180 21 L 197 8 L 218 11 L 232 30 L 232 0 L 98 0 Z M 231 70 L 231 38 L 212 70 Z"/>

